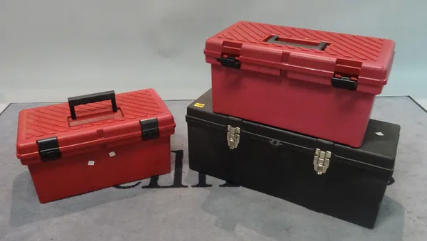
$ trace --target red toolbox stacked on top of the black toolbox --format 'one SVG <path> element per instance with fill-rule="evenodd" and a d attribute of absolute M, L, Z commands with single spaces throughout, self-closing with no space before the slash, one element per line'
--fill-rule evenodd
<path fill-rule="evenodd" d="M 214 112 L 359 147 L 394 41 L 240 21 L 204 54 Z"/>

